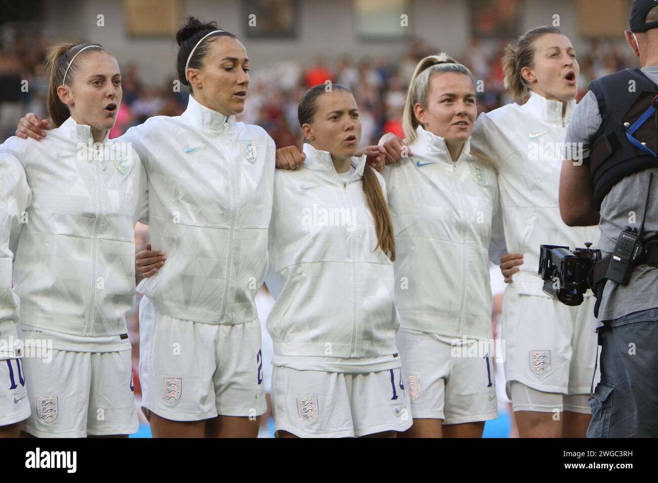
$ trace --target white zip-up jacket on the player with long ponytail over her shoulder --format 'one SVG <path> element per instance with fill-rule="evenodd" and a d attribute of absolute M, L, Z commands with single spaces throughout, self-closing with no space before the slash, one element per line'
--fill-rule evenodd
<path fill-rule="evenodd" d="M 303 166 L 274 175 L 266 280 L 276 298 L 267 319 L 273 363 L 315 358 L 360 371 L 399 367 L 393 264 L 375 249 L 363 193 L 366 156 L 352 158 L 355 172 L 342 179 L 329 152 L 309 144 L 303 152 Z M 384 179 L 377 178 L 386 196 Z"/>

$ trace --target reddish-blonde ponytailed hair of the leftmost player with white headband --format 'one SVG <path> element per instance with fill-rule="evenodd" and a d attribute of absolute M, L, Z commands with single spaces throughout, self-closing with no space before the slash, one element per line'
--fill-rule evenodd
<path fill-rule="evenodd" d="M 45 58 L 45 69 L 49 79 L 47 105 L 48 115 L 51 120 L 53 120 L 55 127 L 61 126 L 71 115 L 68 106 L 59 100 L 57 88 L 63 85 L 64 74 L 66 74 L 66 85 L 71 85 L 78 70 L 78 66 L 80 65 L 80 57 L 84 57 L 84 55 L 86 55 L 91 49 L 88 49 L 88 51 L 81 53 L 77 57 L 76 54 L 82 51 L 85 47 L 90 46 L 103 49 L 101 45 L 93 43 L 81 43 L 80 45 L 75 45 L 73 43 L 59 43 L 48 49 Z M 71 62 L 71 59 L 74 57 L 75 60 Z M 66 71 L 67 68 L 68 72 Z"/>

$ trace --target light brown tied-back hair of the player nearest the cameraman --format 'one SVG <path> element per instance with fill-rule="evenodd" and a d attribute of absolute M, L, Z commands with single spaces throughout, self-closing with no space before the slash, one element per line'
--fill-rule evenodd
<path fill-rule="evenodd" d="M 562 32 L 557 27 L 536 27 L 519 37 L 517 47 L 513 47 L 511 44 L 505 47 L 503 53 L 505 87 L 512 91 L 512 96 L 515 99 L 523 99 L 530 94 L 530 86 L 521 75 L 521 70 L 524 67 L 534 67 L 534 43 L 546 34 L 562 35 Z"/>

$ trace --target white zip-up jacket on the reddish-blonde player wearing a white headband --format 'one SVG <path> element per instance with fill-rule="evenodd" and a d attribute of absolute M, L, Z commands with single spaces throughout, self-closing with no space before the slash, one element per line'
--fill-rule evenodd
<path fill-rule="evenodd" d="M 0 152 L 21 162 L 32 190 L 14 260 L 19 335 L 59 350 L 129 349 L 134 227 L 147 212 L 137 154 L 107 136 L 94 144 L 72 118 L 41 141 L 11 137 Z"/>

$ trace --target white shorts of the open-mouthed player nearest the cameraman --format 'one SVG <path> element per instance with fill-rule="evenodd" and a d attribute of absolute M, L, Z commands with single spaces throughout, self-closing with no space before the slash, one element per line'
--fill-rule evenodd
<path fill-rule="evenodd" d="M 510 383 L 560 394 L 590 394 L 597 357 L 594 297 L 570 307 L 553 298 L 520 295 L 511 283 L 503 297 L 507 397 Z M 599 371 L 594 384 L 599 380 Z"/>

